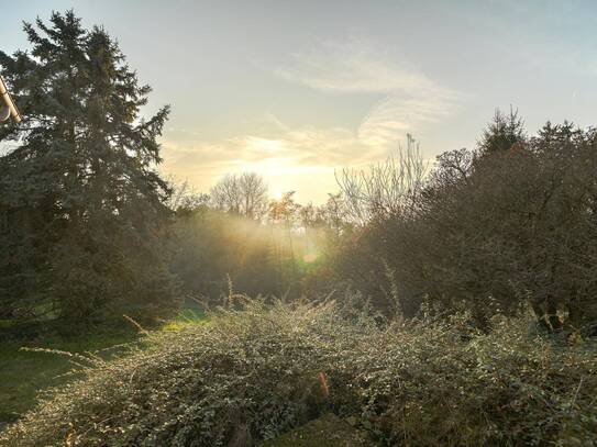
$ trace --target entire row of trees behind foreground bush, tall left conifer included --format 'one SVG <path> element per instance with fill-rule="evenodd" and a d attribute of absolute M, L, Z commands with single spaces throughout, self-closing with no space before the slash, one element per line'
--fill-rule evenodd
<path fill-rule="evenodd" d="M 185 298 L 236 292 L 323 299 L 351 288 L 386 316 L 467 312 L 480 328 L 529 305 L 545 328 L 595 331 L 597 133 L 548 123 L 528 135 L 497 113 L 474 149 L 423 161 L 418 143 L 339 194 L 272 200 L 255 174 L 208 194 L 156 172 L 168 115 L 117 43 L 73 12 L 25 24 L 0 52 L 25 116 L 0 130 L 0 317 L 69 327 L 156 320 Z"/>

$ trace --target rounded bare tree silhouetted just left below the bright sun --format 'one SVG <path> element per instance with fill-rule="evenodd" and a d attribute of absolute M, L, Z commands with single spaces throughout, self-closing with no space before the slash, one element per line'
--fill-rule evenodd
<path fill-rule="evenodd" d="M 210 197 L 214 208 L 247 219 L 261 219 L 267 211 L 267 185 L 255 172 L 225 176 Z"/>

